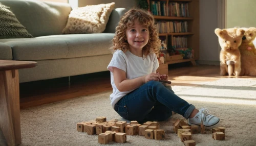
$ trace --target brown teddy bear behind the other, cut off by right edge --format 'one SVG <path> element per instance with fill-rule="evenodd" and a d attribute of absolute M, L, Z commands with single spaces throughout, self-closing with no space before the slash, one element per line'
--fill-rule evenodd
<path fill-rule="evenodd" d="M 252 43 L 256 37 L 256 28 L 241 28 L 245 31 L 239 46 L 241 53 L 241 76 L 256 76 L 256 49 Z"/>

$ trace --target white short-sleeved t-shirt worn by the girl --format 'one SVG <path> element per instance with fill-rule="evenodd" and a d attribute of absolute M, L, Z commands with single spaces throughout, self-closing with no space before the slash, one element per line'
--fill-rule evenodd
<path fill-rule="evenodd" d="M 151 53 L 147 55 L 146 58 L 138 57 L 132 54 L 130 51 L 123 52 L 121 50 L 117 50 L 113 58 L 108 65 L 108 69 L 111 71 L 111 85 L 113 88 L 113 93 L 110 95 L 111 105 L 115 108 L 115 104 L 127 93 L 130 91 L 120 92 L 114 82 L 113 77 L 113 67 L 122 69 L 126 72 L 126 79 L 134 79 L 141 76 L 145 76 L 151 74 L 153 71 L 157 70 L 159 67 L 159 63 L 155 53 Z"/>

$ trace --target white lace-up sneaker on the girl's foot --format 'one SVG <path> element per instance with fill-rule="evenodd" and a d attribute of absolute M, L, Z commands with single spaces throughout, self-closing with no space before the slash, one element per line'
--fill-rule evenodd
<path fill-rule="evenodd" d="M 201 121 L 205 128 L 210 129 L 212 127 L 215 127 L 219 123 L 220 118 L 215 115 L 209 114 L 209 111 L 206 108 L 201 108 L 193 118 L 188 118 L 188 125 L 200 126 Z"/>

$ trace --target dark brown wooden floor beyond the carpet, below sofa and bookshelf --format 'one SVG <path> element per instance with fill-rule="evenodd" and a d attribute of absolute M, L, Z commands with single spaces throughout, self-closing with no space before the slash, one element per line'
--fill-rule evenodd
<path fill-rule="evenodd" d="M 169 81 L 172 81 L 172 85 L 198 86 L 197 83 L 200 82 L 229 78 L 220 76 L 219 66 L 173 64 L 168 68 Z M 256 79 L 254 77 L 241 78 Z M 68 77 L 20 83 L 20 108 L 39 106 L 107 90 L 112 90 L 109 71 L 74 76 L 71 77 L 70 84 Z"/>

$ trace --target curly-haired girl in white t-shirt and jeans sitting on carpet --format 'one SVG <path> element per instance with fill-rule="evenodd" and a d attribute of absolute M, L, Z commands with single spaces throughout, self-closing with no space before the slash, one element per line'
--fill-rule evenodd
<path fill-rule="evenodd" d="M 196 109 L 159 82 L 168 79 L 167 75 L 156 73 L 160 42 L 151 13 L 131 9 L 121 17 L 108 66 L 114 110 L 121 117 L 140 123 L 166 120 L 174 111 L 188 118 L 189 125 L 200 125 L 201 118 L 206 128 L 218 124 L 220 119 L 208 114 L 207 109 Z"/>

